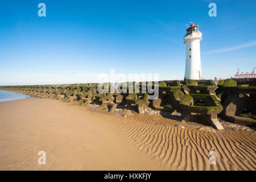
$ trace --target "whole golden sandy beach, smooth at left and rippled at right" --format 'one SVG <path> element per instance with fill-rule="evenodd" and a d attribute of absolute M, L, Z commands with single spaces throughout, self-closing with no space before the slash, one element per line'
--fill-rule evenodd
<path fill-rule="evenodd" d="M 254 131 L 200 131 L 162 115 L 99 113 L 29 98 L 0 103 L 0 170 L 255 170 Z M 46 165 L 38 152 L 46 152 Z M 217 164 L 210 165 L 209 151 Z"/>

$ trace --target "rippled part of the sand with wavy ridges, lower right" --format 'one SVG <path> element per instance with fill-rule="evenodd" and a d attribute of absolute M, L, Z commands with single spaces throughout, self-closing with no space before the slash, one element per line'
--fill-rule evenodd
<path fill-rule="evenodd" d="M 167 170 L 255 170 L 255 133 L 181 129 L 170 119 L 147 114 L 128 118 L 101 115 L 109 130 L 157 160 Z M 109 117 L 109 118 L 108 118 Z M 216 165 L 209 164 L 216 152 Z"/>

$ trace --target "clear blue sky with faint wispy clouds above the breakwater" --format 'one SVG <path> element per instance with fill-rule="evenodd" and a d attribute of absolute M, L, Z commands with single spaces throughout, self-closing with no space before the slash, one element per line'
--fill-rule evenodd
<path fill-rule="evenodd" d="M 38 4 L 46 4 L 46 17 Z M 217 17 L 208 15 L 209 3 Z M 256 66 L 256 1 L 0 1 L 0 85 L 95 82 L 98 73 L 184 78 L 199 24 L 204 78 Z"/>

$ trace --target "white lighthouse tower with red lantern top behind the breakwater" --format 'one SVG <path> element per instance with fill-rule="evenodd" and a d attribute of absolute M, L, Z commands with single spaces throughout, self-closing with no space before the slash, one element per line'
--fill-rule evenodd
<path fill-rule="evenodd" d="M 192 22 L 191 22 L 192 23 Z M 199 27 L 193 23 L 187 28 L 187 34 L 184 36 L 184 44 L 186 44 L 186 80 L 203 80 L 200 57 L 200 40 L 202 33 Z"/>

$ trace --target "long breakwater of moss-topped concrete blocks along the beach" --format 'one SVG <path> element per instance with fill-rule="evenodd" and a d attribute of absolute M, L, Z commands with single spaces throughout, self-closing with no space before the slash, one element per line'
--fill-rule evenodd
<path fill-rule="evenodd" d="M 115 90 L 112 84 L 105 85 Z M 99 110 L 110 113 L 117 106 L 122 106 L 125 110 L 136 109 L 140 114 L 148 107 L 170 113 L 177 111 L 182 113 L 179 118 L 181 121 L 197 120 L 217 130 L 224 130 L 217 117 L 236 124 L 256 127 L 255 78 L 221 80 L 218 85 L 212 80 L 160 81 L 158 89 L 152 87 L 158 92 L 158 97 L 154 100 L 148 100 L 148 96 L 154 95 L 152 90 L 148 90 L 148 87 L 143 88 L 141 82 L 134 83 L 134 88 L 135 85 L 138 86 L 139 93 L 99 93 L 96 83 L 0 86 L 0 90 L 72 102 L 81 106 L 97 104 L 100 105 Z M 120 86 L 125 87 L 129 89 L 128 83 L 122 83 Z"/>

